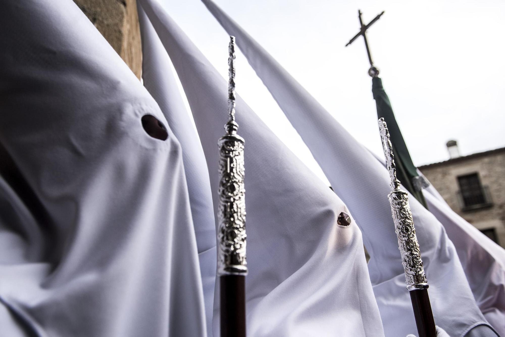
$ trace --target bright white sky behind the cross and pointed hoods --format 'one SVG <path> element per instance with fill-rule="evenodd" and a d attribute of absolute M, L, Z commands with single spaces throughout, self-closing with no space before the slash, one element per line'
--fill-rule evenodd
<path fill-rule="evenodd" d="M 228 35 L 199 0 L 162 0 L 211 63 L 228 76 Z M 383 155 L 363 38 L 416 165 L 505 146 L 505 2 L 499 0 L 215 0 L 356 139 Z M 318 176 L 318 164 L 240 52 L 237 93 Z M 225 113 L 225 112 L 223 112 Z M 237 116 L 237 118 L 239 118 Z M 324 135 L 322 135 L 323 137 Z"/>

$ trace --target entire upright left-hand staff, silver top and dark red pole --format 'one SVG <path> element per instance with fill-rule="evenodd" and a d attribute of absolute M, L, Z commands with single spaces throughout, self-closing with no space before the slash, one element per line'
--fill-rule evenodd
<path fill-rule="evenodd" d="M 244 139 L 235 122 L 235 37 L 228 48 L 228 122 L 219 146 L 218 275 L 221 337 L 245 337 Z"/>

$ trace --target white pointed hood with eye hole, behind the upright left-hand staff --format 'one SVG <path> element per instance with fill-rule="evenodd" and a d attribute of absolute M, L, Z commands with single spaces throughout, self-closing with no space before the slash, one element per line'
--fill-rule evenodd
<path fill-rule="evenodd" d="M 184 87 L 216 199 L 226 81 L 159 3 L 138 3 Z M 223 48 L 227 44 L 223 38 Z M 354 221 L 347 227 L 337 224 L 339 213 L 348 212 L 345 205 L 238 96 L 236 117 L 245 139 L 248 335 L 383 336 L 360 230 Z M 217 336 L 217 304 L 214 320 Z"/>

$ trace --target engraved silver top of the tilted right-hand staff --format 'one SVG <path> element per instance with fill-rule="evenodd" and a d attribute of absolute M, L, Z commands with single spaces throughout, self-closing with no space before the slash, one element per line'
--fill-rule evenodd
<path fill-rule="evenodd" d="M 423 260 L 419 243 L 416 237 L 416 229 L 412 219 L 407 192 L 400 189 L 400 181 L 396 178 L 394 165 L 393 147 L 389 140 L 389 131 L 384 118 L 379 119 L 379 130 L 382 139 L 382 147 L 386 156 L 386 167 L 391 178 L 393 191 L 388 194 L 391 204 L 396 236 L 398 237 L 398 249 L 401 254 L 401 264 L 405 269 L 405 280 L 409 290 L 426 289 L 428 287 L 424 274 Z"/>

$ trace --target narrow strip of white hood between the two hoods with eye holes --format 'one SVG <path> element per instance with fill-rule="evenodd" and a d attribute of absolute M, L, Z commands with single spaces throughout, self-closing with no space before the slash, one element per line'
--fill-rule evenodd
<path fill-rule="evenodd" d="M 198 134 L 186 111 L 170 67 L 170 58 L 153 25 L 138 4 L 142 37 L 142 79 L 167 118 L 182 147 L 182 159 L 196 234 L 201 279 L 204 286 L 207 334 L 212 336 L 214 285 L 216 282 L 216 229 L 209 171 Z"/>

